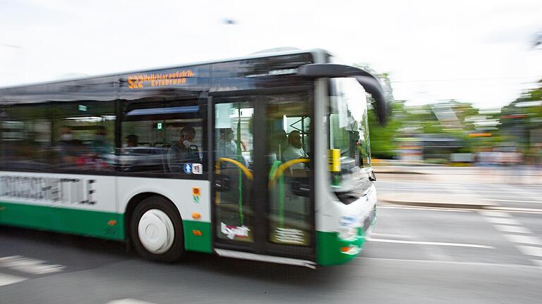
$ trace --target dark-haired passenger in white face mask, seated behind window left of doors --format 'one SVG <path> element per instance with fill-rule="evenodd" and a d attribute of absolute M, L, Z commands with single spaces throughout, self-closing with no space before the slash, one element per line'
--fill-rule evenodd
<path fill-rule="evenodd" d="M 183 172 L 185 163 L 201 163 L 198 146 L 192 143 L 195 138 L 193 127 L 181 130 L 179 141 L 176 141 L 167 151 L 167 165 L 170 172 Z"/>

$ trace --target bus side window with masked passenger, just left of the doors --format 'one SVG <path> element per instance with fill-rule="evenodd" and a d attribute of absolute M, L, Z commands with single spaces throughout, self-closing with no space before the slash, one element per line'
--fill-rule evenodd
<path fill-rule="evenodd" d="M 124 105 L 124 145 L 117 170 L 146 175 L 192 175 L 207 170 L 203 111 L 198 101 L 131 102 Z"/>

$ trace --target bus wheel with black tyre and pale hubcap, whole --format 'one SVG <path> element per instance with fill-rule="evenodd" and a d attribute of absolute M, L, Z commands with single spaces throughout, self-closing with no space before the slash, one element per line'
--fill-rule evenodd
<path fill-rule="evenodd" d="M 184 252 L 179 212 L 166 198 L 145 198 L 133 210 L 130 223 L 135 251 L 143 258 L 174 262 Z"/>

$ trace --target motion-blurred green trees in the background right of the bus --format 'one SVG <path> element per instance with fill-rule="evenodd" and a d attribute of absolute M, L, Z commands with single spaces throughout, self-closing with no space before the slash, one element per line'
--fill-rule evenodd
<path fill-rule="evenodd" d="M 394 100 L 389 75 L 378 74 L 366 64 L 355 65 L 377 76 L 392 101 L 391 117 L 384 127 L 373 110 L 368 111 L 373 158 L 397 158 L 399 141 L 420 141 L 424 137 L 459 143 L 453 152 L 460 153 L 511 145 L 527 151 L 542 145 L 542 80 L 536 89 L 525 91 L 510 105 L 488 113 L 456 100 L 406 106 L 405 101 Z"/>

